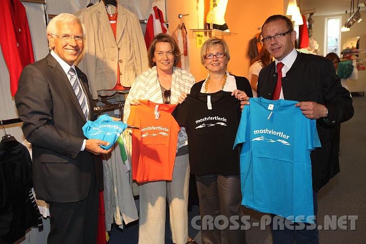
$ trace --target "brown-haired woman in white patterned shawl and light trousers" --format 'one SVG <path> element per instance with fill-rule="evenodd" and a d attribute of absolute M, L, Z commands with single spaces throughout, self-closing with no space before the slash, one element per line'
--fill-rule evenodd
<path fill-rule="evenodd" d="M 147 55 L 150 69 L 136 77 L 125 102 L 124 121 L 128 119 L 131 106 L 139 105 L 138 100 L 165 104 L 181 103 L 195 83 L 192 74 L 176 67 L 180 52 L 178 45 L 169 35 L 155 36 Z M 139 184 L 139 244 L 165 243 L 166 200 L 169 204 L 173 242 L 196 243 L 188 236 L 189 175 L 187 134 L 185 129 L 181 128 L 172 181 L 159 180 Z"/>

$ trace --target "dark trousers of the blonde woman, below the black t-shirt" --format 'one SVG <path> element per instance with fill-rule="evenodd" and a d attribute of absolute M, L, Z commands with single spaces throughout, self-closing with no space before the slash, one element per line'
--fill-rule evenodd
<path fill-rule="evenodd" d="M 241 230 L 240 227 L 230 230 L 230 226 L 233 227 L 230 218 L 236 218 L 236 222 L 240 225 L 240 219 L 243 216 L 240 204 L 240 176 L 224 176 L 221 174 L 196 175 L 196 182 L 203 244 L 246 243 L 245 230 Z M 215 219 L 218 216 L 220 216 L 220 219 L 225 219 L 219 223 L 223 224 L 225 221 L 228 221 L 229 226 L 223 228 L 224 225 L 219 226 L 215 224 Z M 211 224 L 212 218 L 214 219 L 214 224 Z M 210 224 L 205 225 L 204 222 Z"/>

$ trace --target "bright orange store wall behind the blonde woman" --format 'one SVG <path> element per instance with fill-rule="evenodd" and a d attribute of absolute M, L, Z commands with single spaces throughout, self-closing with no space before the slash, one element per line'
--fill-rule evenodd
<path fill-rule="evenodd" d="M 229 72 L 239 76 L 248 76 L 250 66 L 250 58 L 248 56 L 249 41 L 258 32 L 265 19 L 273 14 L 284 13 L 283 0 L 262 0 L 260 5 L 255 1 L 229 0 L 225 20 L 230 28 L 230 32 L 237 35 L 224 36 L 228 42 L 231 60 L 228 65 Z M 173 34 L 182 19 L 178 18 L 178 14 L 189 14 L 184 17 L 184 22 L 189 32 L 190 39 L 190 64 L 191 73 L 195 76 L 196 81 L 200 81 L 207 76 L 205 68 L 200 62 L 200 49 L 196 47 L 196 38 L 189 29 L 198 27 L 198 20 L 203 21 L 200 10 L 202 0 L 196 1 L 175 1 L 167 0 L 167 19 L 169 21 L 169 32 Z M 268 6 L 268 7 L 260 7 Z M 197 10 L 198 9 L 198 10 Z M 201 22 L 200 21 L 200 22 Z M 208 37 L 205 37 L 205 40 Z"/>

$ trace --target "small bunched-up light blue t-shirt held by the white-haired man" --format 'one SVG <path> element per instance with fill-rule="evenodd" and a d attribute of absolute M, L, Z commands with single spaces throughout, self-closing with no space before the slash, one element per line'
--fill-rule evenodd
<path fill-rule="evenodd" d="M 82 129 L 84 136 L 88 139 L 108 141 L 109 146 L 100 146 L 108 150 L 117 141 L 119 135 L 125 131 L 127 126 L 122 121 L 114 121 L 108 114 L 103 114 L 95 121 L 88 120 Z"/>

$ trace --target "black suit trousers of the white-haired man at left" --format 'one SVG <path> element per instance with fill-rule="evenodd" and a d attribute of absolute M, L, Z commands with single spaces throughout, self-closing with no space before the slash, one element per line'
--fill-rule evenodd
<path fill-rule="evenodd" d="M 49 202 L 51 230 L 48 244 L 97 243 L 99 190 L 92 175 L 88 196 L 78 202 Z"/>

